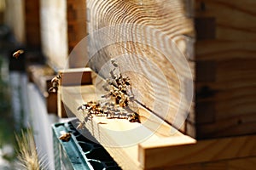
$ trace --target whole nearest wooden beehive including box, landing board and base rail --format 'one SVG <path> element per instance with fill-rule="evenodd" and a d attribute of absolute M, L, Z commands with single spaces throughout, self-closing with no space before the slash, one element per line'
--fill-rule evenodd
<path fill-rule="evenodd" d="M 94 116 L 84 126 L 120 167 L 254 169 L 253 0 L 86 2 L 96 81 L 61 85 L 61 100 L 83 122 L 79 106 L 101 98 L 96 88 L 113 69 L 106 64 L 119 63 L 136 92 L 141 123 Z"/>

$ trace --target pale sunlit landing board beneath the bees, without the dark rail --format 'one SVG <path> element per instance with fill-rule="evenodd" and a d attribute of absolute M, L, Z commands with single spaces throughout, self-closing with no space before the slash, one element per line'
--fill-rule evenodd
<path fill-rule="evenodd" d="M 80 120 L 83 120 L 84 116 L 80 111 L 77 111 L 77 108 L 85 101 L 98 99 L 93 85 L 61 87 L 61 92 L 63 103 Z M 161 139 L 169 137 L 176 140 L 179 136 L 183 136 L 182 133 L 178 133 L 159 117 L 149 115 L 148 111 L 143 108 L 139 110 L 139 114 L 142 116 L 142 123 L 132 123 L 125 119 L 107 119 L 103 116 L 95 116 L 91 121 L 85 123 L 85 127 L 90 133 L 124 169 L 142 168 L 137 157 L 138 143 L 145 140 L 149 142 L 161 141 Z M 183 143 L 189 142 L 195 142 L 195 140 L 189 137 L 183 139 Z"/>

